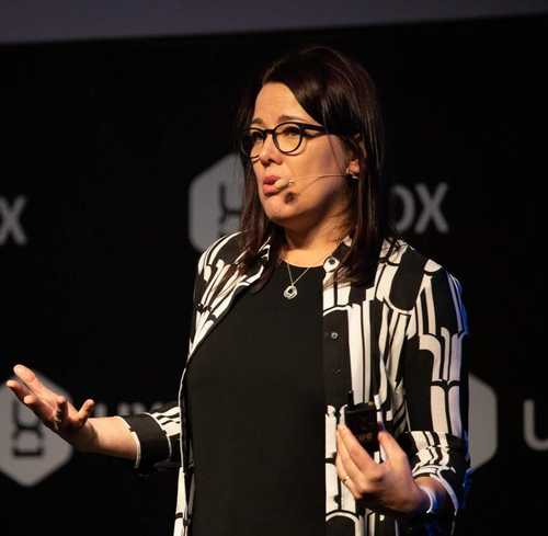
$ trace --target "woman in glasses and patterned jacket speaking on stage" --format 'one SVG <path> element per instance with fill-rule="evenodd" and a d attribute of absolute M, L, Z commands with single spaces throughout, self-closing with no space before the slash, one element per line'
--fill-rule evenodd
<path fill-rule="evenodd" d="M 179 401 L 90 418 L 19 365 L 9 387 L 84 452 L 180 466 L 175 535 L 449 534 L 469 467 L 457 281 L 388 230 L 362 66 L 274 62 L 239 119 L 241 231 L 201 256 Z M 344 425 L 374 403 L 378 447 Z"/>

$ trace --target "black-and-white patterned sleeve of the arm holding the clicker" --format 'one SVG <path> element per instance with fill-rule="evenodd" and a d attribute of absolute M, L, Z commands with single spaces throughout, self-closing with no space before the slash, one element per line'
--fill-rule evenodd
<path fill-rule="evenodd" d="M 447 491 L 457 514 L 468 487 L 468 322 L 458 281 L 425 273 L 406 332 L 403 385 L 408 431 L 399 437 L 414 478 Z"/>

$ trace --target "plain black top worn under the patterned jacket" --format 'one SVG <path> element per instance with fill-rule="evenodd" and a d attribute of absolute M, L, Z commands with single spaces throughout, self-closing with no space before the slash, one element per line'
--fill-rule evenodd
<path fill-rule="evenodd" d="M 304 271 L 292 266 L 294 281 Z M 282 263 L 196 350 L 185 379 L 192 536 L 326 534 L 323 276 L 311 267 L 289 300 Z"/>

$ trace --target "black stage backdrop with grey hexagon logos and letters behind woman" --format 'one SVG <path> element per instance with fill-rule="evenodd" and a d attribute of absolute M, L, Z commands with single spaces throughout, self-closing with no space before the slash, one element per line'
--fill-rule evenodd
<path fill-rule="evenodd" d="M 544 534 L 546 18 L 0 48 L 0 377 L 96 414 L 176 397 L 197 256 L 233 230 L 233 117 L 301 44 L 377 81 L 395 224 L 461 282 L 473 484 L 458 535 Z M 175 476 L 75 453 L 0 387 L 2 535 L 169 535 Z M 537 533 L 534 533 L 537 534 Z"/>

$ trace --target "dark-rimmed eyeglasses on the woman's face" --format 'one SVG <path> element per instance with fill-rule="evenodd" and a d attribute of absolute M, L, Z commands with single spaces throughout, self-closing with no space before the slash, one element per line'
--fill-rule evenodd
<path fill-rule="evenodd" d="M 261 153 L 266 136 L 272 135 L 274 145 L 284 155 L 295 152 L 304 138 L 313 138 L 307 130 L 326 134 L 326 128 L 319 125 L 296 123 L 293 121 L 279 123 L 274 128 L 251 127 L 243 130 L 240 139 L 240 150 L 251 160 L 256 160 Z"/>

